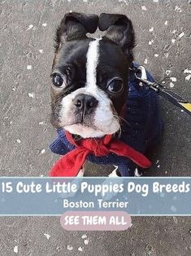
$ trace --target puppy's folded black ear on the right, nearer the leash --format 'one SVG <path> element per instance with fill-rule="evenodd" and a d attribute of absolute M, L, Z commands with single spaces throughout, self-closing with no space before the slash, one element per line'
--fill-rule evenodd
<path fill-rule="evenodd" d="M 98 27 L 101 31 L 106 30 L 104 38 L 109 38 L 115 42 L 132 59 L 135 34 L 132 21 L 126 15 L 102 13 L 99 16 Z"/>

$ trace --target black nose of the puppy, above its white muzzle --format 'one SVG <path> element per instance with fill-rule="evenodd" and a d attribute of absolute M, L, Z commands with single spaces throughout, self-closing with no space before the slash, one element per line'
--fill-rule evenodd
<path fill-rule="evenodd" d="M 89 114 L 98 106 L 98 100 L 91 95 L 80 94 L 74 99 L 74 105 L 78 110 L 83 111 L 85 114 Z"/>

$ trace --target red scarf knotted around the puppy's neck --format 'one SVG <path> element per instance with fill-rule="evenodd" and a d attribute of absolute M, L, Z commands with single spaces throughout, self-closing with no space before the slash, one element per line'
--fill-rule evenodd
<path fill-rule="evenodd" d="M 76 148 L 55 163 L 50 170 L 51 177 L 75 177 L 89 154 L 104 157 L 110 153 L 115 153 L 118 156 L 130 158 L 142 168 L 149 168 L 151 165 L 150 161 L 140 152 L 117 139 L 112 139 L 112 135 L 106 135 L 102 139 L 80 139 L 78 141 L 75 141 L 67 131 L 65 131 L 65 135 L 67 140 Z"/>

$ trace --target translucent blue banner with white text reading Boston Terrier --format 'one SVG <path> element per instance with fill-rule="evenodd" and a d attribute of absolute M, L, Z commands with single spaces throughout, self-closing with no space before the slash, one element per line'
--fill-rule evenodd
<path fill-rule="evenodd" d="M 191 216 L 191 178 L 0 178 L 0 215 L 97 210 Z"/>

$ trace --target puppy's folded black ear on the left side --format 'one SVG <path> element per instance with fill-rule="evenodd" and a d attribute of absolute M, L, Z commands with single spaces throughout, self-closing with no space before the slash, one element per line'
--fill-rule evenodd
<path fill-rule="evenodd" d="M 86 33 L 94 33 L 98 28 L 98 15 L 69 12 L 64 15 L 63 20 L 56 32 L 56 50 L 60 43 L 86 38 Z"/>

